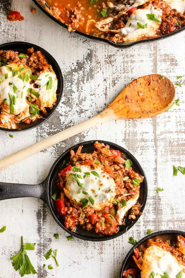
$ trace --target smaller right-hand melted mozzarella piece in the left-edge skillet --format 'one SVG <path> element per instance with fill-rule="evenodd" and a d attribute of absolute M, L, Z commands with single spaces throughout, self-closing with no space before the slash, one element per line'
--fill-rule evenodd
<path fill-rule="evenodd" d="M 49 81 L 49 77 L 52 78 L 52 88 L 51 90 L 46 90 L 47 86 L 45 85 Z M 46 69 L 41 71 L 38 79 L 39 80 L 36 80 L 35 83 L 38 84 L 40 88 L 34 88 L 32 84 L 32 89 L 33 91 L 39 93 L 39 99 L 42 107 L 51 107 L 53 103 L 56 102 L 56 90 L 58 84 L 56 74 Z"/>

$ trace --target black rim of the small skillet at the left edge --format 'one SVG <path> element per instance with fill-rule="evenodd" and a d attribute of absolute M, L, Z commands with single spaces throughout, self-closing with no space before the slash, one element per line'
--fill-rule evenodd
<path fill-rule="evenodd" d="M 44 118 L 41 118 L 39 119 L 38 122 L 36 122 L 35 124 L 31 125 L 31 127 L 25 127 L 25 128 L 16 128 L 16 129 L 10 129 L 10 128 L 2 128 L 0 127 L 0 130 L 3 130 L 3 131 L 7 131 L 7 132 L 21 132 L 21 131 L 25 131 L 25 130 L 30 130 L 32 128 L 35 128 L 41 124 L 43 124 L 46 120 L 48 120 L 51 115 L 53 115 L 53 113 L 55 112 L 56 108 L 59 106 L 60 104 L 60 101 L 61 101 L 61 98 L 62 98 L 62 95 L 63 95 L 63 89 L 64 89 L 64 81 L 63 81 L 63 76 L 62 76 L 62 72 L 61 72 L 61 69 L 60 69 L 60 66 L 58 65 L 57 61 L 55 60 L 55 58 L 50 54 L 48 53 L 44 48 L 36 45 L 36 44 L 31 44 L 31 43 L 28 43 L 28 42 L 23 42 L 23 41 L 15 41 L 15 42 L 8 42 L 8 43 L 4 43 L 4 44 L 0 44 L 0 50 L 2 49 L 3 50 L 3 47 L 10 47 L 10 49 L 19 49 L 20 48 L 20 45 L 26 48 L 31 48 L 33 47 L 34 50 L 40 50 L 42 53 L 44 53 L 44 56 L 46 57 L 46 59 L 49 61 L 49 62 L 52 62 L 52 67 L 55 69 L 55 74 L 57 75 L 57 79 L 58 79 L 58 86 L 57 86 L 57 91 L 58 93 L 60 93 L 59 95 L 59 98 L 54 106 L 54 108 L 51 110 L 51 112 L 49 112 L 46 116 L 44 116 Z"/>

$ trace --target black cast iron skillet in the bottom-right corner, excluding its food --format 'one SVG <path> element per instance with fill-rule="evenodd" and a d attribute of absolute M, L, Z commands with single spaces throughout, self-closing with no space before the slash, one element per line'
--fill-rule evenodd
<path fill-rule="evenodd" d="M 166 236 L 169 236 L 172 240 L 173 238 L 175 238 L 176 235 L 182 235 L 183 237 L 185 237 L 185 232 L 182 231 L 175 231 L 175 230 L 166 230 L 166 231 L 160 231 L 160 232 L 156 232 L 156 233 L 152 233 L 147 235 L 146 237 L 142 238 L 139 242 L 137 242 L 129 251 L 129 253 L 126 255 L 123 264 L 121 266 L 121 271 L 120 271 L 120 276 L 119 278 L 123 278 L 122 274 L 123 271 L 128 270 L 129 268 L 137 268 L 136 264 L 134 263 L 134 260 L 132 258 L 132 256 L 134 255 L 134 249 L 136 247 L 138 247 L 139 245 L 141 245 L 142 243 L 144 243 L 146 240 L 148 240 L 149 238 L 155 238 L 155 237 L 159 237 L 162 239 L 166 239 Z M 169 238 L 168 238 L 169 239 Z"/>

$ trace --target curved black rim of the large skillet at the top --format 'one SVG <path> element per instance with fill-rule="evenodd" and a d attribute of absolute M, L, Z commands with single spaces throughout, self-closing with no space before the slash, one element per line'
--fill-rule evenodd
<path fill-rule="evenodd" d="M 60 20 L 56 19 L 53 15 L 51 15 L 48 11 L 46 11 L 43 8 L 43 6 L 37 0 L 33 0 L 33 2 L 39 7 L 39 9 L 41 11 L 43 11 L 52 20 L 54 20 L 56 23 L 60 24 L 65 29 L 68 29 L 68 25 L 62 23 Z M 138 41 L 134 41 L 134 42 L 126 43 L 126 44 L 122 44 L 122 43 L 115 44 L 115 43 L 113 43 L 110 40 L 101 39 L 101 38 L 98 38 L 98 37 L 87 35 L 87 34 L 84 34 L 84 33 L 80 32 L 80 31 L 77 31 L 77 30 L 75 30 L 73 33 L 76 33 L 77 35 L 82 36 L 82 37 L 84 37 L 84 38 L 86 38 L 88 40 L 97 41 L 97 42 L 99 42 L 101 44 L 109 44 L 109 45 L 111 45 L 111 46 L 113 46 L 115 48 L 126 49 L 126 48 L 130 48 L 130 47 L 132 47 L 134 45 L 137 45 L 137 44 L 145 44 L 145 43 L 150 43 L 150 42 L 153 42 L 153 41 L 163 40 L 163 39 L 166 39 L 168 37 L 174 36 L 174 35 L 182 32 L 184 30 L 185 30 L 185 26 L 182 27 L 181 29 L 175 31 L 175 32 L 172 32 L 172 33 L 164 35 L 164 36 L 160 36 L 160 37 L 153 38 L 153 39 L 147 39 L 147 40 L 138 40 Z"/>

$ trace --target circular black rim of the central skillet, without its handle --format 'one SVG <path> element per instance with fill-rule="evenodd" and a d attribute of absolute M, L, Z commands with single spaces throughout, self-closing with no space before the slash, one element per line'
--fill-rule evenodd
<path fill-rule="evenodd" d="M 51 200 L 51 183 L 52 183 L 52 179 L 53 179 L 53 174 L 55 173 L 55 169 L 58 167 L 58 164 L 59 162 L 62 161 L 62 158 L 70 151 L 70 150 L 73 150 L 73 149 L 76 149 L 78 148 L 79 146 L 83 145 L 84 147 L 86 147 L 86 145 L 94 145 L 95 141 L 98 141 L 100 143 L 104 143 L 104 144 L 107 144 L 109 145 L 111 148 L 115 148 L 117 150 L 121 150 L 121 152 L 124 152 L 133 162 L 133 165 L 135 165 L 138 170 L 139 170 L 139 173 L 141 175 L 143 175 L 145 177 L 144 179 L 144 182 L 143 182 L 143 204 L 142 204 L 142 209 L 141 209 L 141 213 L 143 212 L 144 208 L 145 208 L 145 205 L 146 205 L 146 201 L 147 201 L 147 195 L 148 195 L 148 184 L 147 184 L 147 179 L 146 179 L 146 175 L 145 175 L 145 172 L 144 170 L 142 169 L 142 166 L 140 165 L 140 163 L 138 162 L 138 160 L 128 151 L 126 150 L 125 148 L 115 144 L 115 143 L 112 143 L 112 142 L 108 142 L 108 141 L 104 141 L 104 140 L 91 140 L 91 141 L 85 141 L 85 142 L 81 142 L 79 144 L 76 144 L 72 147 L 70 147 L 68 150 L 66 150 L 56 161 L 55 163 L 53 164 L 53 166 L 51 167 L 51 170 L 47 176 L 47 187 L 48 187 L 48 190 L 47 190 L 47 200 L 48 200 L 48 206 L 50 208 L 50 211 L 51 211 L 51 214 L 53 216 L 53 218 L 55 219 L 55 221 L 57 222 L 57 224 L 64 230 L 66 231 L 67 233 L 71 234 L 72 236 L 76 237 L 76 238 L 80 238 L 80 239 L 83 239 L 83 240 L 88 240 L 88 241 L 93 241 L 93 242 L 99 242 L 99 241 L 107 241 L 107 240 L 111 240 L 111 239 L 114 239 L 114 238 L 117 238 L 119 236 L 121 236 L 122 234 L 125 234 L 125 232 L 127 232 L 128 230 L 130 230 L 130 228 L 138 221 L 139 217 L 141 215 L 138 215 L 136 217 L 136 219 L 132 222 L 130 222 L 130 224 L 128 226 L 125 226 L 125 229 L 122 229 L 121 231 L 118 231 L 116 234 L 113 234 L 111 236 L 108 236 L 108 237 L 91 237 L 91 236 L 84 236 L 84 235 L 80 235 L 80 234 L 76 234 L 75 232 L 72 232 L 70 230 L 68 230 L 60 221 L 59 221 L 59 218 L 55 215 L 55 212 L 54 212 L 54 208 L 53 208 L 53 203 L 52 203 L 52 200 Z"/>

